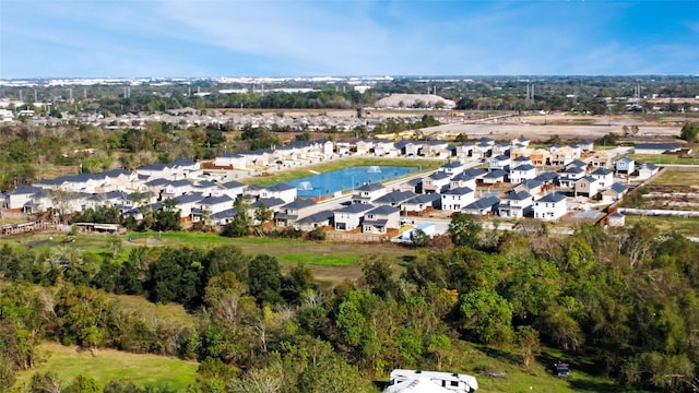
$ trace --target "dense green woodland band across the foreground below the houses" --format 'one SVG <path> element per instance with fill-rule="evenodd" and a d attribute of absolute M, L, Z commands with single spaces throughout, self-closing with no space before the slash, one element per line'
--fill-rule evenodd
<path fill-rule="evenodd" d="M 275 258 L 212 249 L 133 248 L 123 261 L 68 247 L 3 246 L 0 373 L 40 361 L 43 340 L 201 361 L 193 392 L 371 391 L 392 368 L 469 369 L 464 342 L 514 348 L 522 368 L 542 345 L 595 359 L 636 389 L 690 391 L 699 357 L 699 245 L 648 225 L 483 233 L 469 216 L 402 275 L 381 255 L 363 277 L 320 286 Z M 40 284 L 42 287 L 28 285 Z M 178 302 L 198 324 L 153 320 L 107 293 Z M 512 350 L 512 349 L 507 349 Z"/>

